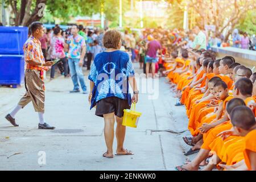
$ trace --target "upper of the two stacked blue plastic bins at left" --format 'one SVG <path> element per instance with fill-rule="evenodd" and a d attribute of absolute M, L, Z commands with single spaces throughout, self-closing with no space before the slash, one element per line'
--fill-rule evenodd
<path fill-rule="evenodd" d="M 0 26 L 0 55 L 23 55 L 23 45 L 28 39 L 28 27 Z"/>

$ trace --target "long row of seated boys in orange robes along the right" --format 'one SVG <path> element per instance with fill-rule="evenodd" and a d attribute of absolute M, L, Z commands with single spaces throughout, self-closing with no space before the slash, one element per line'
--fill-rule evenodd
<path fill-rule="evenodd" d="M 176 170 L 256 170 L 256 73 L 204 48 L 173 49 L 163 67 L 175 106 L 187 110 L 191 137 L 183 140 L 191 149 L 184 155 L 197 153 Z"/>

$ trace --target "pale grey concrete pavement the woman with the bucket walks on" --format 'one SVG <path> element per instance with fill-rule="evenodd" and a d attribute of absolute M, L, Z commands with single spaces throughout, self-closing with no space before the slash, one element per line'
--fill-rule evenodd
<path fill-rule="evenodd" d="M 87 71 L 89 85 L 86 75 Z M 146 90 L 148 84 L 143 80 L 140 85 Z M 4 117 L 25 89 L 0 88 L 0 170 L 174 170 L 185 161 L 183 152 L 189 147 L 181 137 L 188 135 L 188 119 L 183 106 L 174 106 L 176 99 L 165 78 L 159 80 L 157 99 L 149 100 L 148 93 L 139 95 L 137 110 L 142 117 L 137 129 L 127 128 L 125 140 L 125 147 L 135 155 L 113 159 L 102 158 L 104 122 L 94 109 L 89 110 L 88 95 L 69 94 L 71 78 L 58 77 L 47 82 L 46 89 L 46 121 L 56 126 L 53 131 L 37 129 L 32 104 L 16 115 L 19 127 L 10 126 Z M 44 154 L 46 164 L 40 163 Z"/>

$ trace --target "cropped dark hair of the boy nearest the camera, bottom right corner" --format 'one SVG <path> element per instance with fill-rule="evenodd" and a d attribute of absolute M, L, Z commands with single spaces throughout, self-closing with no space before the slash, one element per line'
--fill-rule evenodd
<path fill-rule="evenodd" d="M 234 107 L 230 118 L 233 126 L 240 127 L 243 130 L 250 130 L 255 125 L 253 111 L 247 106 Z"/>

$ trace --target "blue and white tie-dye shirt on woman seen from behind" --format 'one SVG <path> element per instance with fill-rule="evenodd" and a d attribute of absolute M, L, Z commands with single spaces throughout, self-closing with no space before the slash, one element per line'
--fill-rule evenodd
<path fill-rule="evenodd" d="M 88 77 L 95 84 L 90 109 L 96 105 L 96 102 L 108 97 L 128 100 L 131 105 L 129 77 L 133 76 L 133 64 L 126 52 L 118 50 L 98 53 Z"/>

